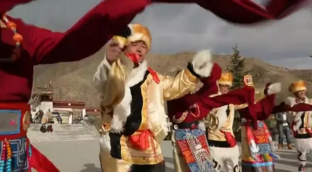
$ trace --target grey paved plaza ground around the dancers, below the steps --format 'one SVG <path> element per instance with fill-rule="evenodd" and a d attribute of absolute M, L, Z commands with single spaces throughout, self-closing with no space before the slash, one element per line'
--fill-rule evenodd
<path fill-rule="evenodd" d="M 33 145 L 50 158 L 61 172 L 101 172 L 98 162 L 98 140 L 34 142 Z M 169 141 L 163 142 L 162 150 L 166 160 L 166 172 L 174 172 Z M 281 159 L 275 164 L 276 172 L 296 172 L 296 152 L 283 150 L 278 153 Z M 309 172 L 312 170 L 311 161 L 308 167 Z"/>

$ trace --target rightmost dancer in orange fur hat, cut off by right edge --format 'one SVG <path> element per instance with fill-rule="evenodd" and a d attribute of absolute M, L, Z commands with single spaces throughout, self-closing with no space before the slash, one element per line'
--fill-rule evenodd
<path fill-rule="evenodd" d="M 306 96 L 307 87 L 304 81 L 297 81 L 289 86 L 289 91 L 294 97 L 288 97 L 286 103 L 293 107 L 298 103 L 312 105 L 312 100 Z M 305 172 L 307 156 L 312 150 L 312 111 L 288 112 L 291 119 L 294 145 L 298 151 L 299 172 Z"/>

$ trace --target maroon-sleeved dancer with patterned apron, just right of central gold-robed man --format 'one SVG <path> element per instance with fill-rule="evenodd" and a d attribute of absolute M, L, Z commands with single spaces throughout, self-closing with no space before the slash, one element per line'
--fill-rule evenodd
<path fill-rule="evenodd" d="M 254 87 L 250 86 L 209 97 L 218 91 L 216 81 L 220 76 L 221 69 L 214 64 L 211 76 L 201 80 L 203 86 L 197 92 L 167 102 L 168 115 L 174 126 L 172 144 L 176 172 L 215 172 L 205 127 L 200 129 L 199 120 L 205 118 L 213 108 L 254 103 L 247 99 L 248 95 L 254 93 Z"/>

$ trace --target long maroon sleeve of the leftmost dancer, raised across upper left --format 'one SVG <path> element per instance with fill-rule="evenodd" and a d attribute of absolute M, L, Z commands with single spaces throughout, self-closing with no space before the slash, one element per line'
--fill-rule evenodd
<path fill-rule="evenodd" d="M 149 0 L 102 0 L 65 33 L 51 32 L 14 20 L 28 43 L 34 64 L 78 61 L 96 53 L 126 28 Z"/>

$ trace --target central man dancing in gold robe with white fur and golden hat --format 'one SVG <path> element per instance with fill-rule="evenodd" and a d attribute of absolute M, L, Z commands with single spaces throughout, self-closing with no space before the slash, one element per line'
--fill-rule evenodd
<path fill-rule="evenodd" d="M 147 67 L 145 57 L 152 43 L 148 28 L 141 24 L 129 28 L 126 38 L 114 37 L 118 42 L 109 44 L 94 77 L 102 95 L 102 171 L 164 172 L 160 149 L 168 133 L 164 101 L 194 91 L 198 78 L 210 75 L 212 55 L 200 51 L 176 77 L 163 76 Z M 112 53 L 118 48 L 121 54 Z"/>

